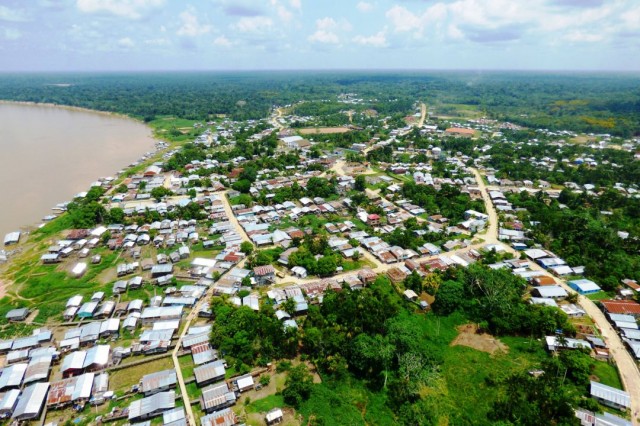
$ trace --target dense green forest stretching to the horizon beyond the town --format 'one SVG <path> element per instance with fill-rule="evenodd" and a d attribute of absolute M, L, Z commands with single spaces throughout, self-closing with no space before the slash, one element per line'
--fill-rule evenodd
<path fill-rule="evenodd" d="M 531 72 L 191 72 L 5 74 L 0 99 L 128 114 L 204 120 L 264 118 L 274 105 L 356 93 L 381 114 L 411 113 L 416 101 L 446 113 L 466 105 L 531 127 L 640 134 L 640 76 Z M 345 104 L 345 110 L 351 105 Z M 311 113 L 317 106 L 300 107 Z M 334 114 L 339 114 L 335 109 Z"/>

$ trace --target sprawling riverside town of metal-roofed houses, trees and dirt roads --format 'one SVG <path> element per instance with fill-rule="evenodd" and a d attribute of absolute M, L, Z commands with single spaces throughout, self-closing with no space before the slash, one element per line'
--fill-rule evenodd
<path fill-rule="evenodd" d="M 312 383 L 342 363 L 373 374 L 321 352 L 335 343 L 314 335 L 323 321 L 341 324 L 325 310 L 351 309 L 360 293 L 438 327 L 467 315 L 451 345 L 491 357 L 512 356 L 518 336 L 540 350 L 523 364 L 529 378 L 557 375 L 544 366 L 561 360 L 578 424 L 633 424 L 640 284 L 614 243 L 637 257 L 637 227 L 616 224 L 637 219 L 640 188 L 624 167 L 640 160 L 640 139 L 438 116 L 426 101 L 401 120 L 358 93 L 326 102 L 343 109 L 343 125 L 300 101 L 263 120 L 192 120 L 175 132 L 197 133 L 184 143 L 160 126 L 155 152 L 56 206 L 41 227 L 8 234 L 0 416 L 316 424 L 296 411 Z M 607 224 L 584 237 L 604 250 L 597 259 L 570 228 L 584 218 L 567 212 L 583 206 Z M 370 335 L 386 338 L 395 315 L 367 315 L 384 317 L 385 331 Z M 375 363 L 385 389 L 392 364 L 409 368 L 392 358 Z M 572 362 L 590 365 L 586 376 Z M 435 388 L 424 377 L 441 362 L 416 363 L 407 383 Z"/>

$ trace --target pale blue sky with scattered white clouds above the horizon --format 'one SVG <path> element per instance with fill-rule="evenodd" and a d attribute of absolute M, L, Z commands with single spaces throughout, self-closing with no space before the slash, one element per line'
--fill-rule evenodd
<path fill-rule="evenodd" d="M 0 72 L 640 70 L 640 0 L 0 0 Z"/>

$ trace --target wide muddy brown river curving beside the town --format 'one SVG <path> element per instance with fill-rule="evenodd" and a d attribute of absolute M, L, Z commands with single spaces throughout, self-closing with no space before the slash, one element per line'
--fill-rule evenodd
<path fill-rule="evenodd" d="M 0 103 L 0 249 L 6 233 L 41 223 L 56 204 L 153 148 L 151 130 L 134 120 Z"/>

